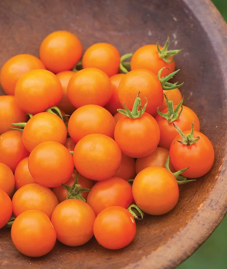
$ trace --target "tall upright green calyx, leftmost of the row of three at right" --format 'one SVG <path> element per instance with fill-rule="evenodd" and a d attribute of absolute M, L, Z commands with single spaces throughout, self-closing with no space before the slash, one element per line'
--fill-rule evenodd
<path fill-rule="evenodd" d="M 143 96 L 143 98 L 146 99 L 146 104 L 143 107 L 142 104 L 141 104 L 141 99 L 140 99 L 139 96 L 140 96 L 140 92 L 137 94 L 137 97 L 136 97 L 136 100 L 134 102 L 132 111 L 130 111 L 126 107 L 125 103 L 123 103 L 125 110 L 119 108 L 119 109 L 117 109 L 117 111 L 119 113 L 123 114 L 124 116 L 130 118 L 130 119 L 138 119 L 138 118 L 141 118 L 142 115 L 143 115 L 143 113 L 145 112 L 145 109 L 146 109 L 146 106 L 147 106 L 148 101 L 147 101 L 146 97 Z"/>

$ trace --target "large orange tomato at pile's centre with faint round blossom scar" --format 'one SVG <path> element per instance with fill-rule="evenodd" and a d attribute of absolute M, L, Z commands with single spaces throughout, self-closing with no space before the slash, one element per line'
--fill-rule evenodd
<path fill-rule="evenodd" d="M 109 136 L 90 134 L 81 138 L 76 144 L 73 160 L 81 175 L 88 179 L 105 180 L 118 171 L 121 151 Z"/>

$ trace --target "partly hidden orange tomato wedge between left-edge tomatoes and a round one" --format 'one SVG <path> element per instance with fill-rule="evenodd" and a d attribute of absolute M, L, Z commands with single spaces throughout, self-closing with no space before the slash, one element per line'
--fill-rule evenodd
<path fill-rule="evenodd" d="M 16 190 L 20 189 L 24 185 L 36 183 L 28 170 L 28 157 L 18 163 L 14 176 Z"/>

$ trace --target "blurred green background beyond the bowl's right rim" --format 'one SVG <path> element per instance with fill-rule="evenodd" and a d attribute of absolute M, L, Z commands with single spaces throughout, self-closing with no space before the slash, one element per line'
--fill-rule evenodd
<path fill-rule="evenodd" d="M 227 0 L 212 2 L 227 21 Z M 227 215 L 207 241 L 177 269 L 227 269 Z"/>

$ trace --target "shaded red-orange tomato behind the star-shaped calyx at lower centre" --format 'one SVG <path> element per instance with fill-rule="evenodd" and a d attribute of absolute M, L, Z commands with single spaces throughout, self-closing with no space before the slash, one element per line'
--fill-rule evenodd
<path fill-rule="evenodd" d="M 70 179 L 65 182 L 66 185 L 72 187 L 75 182 L 77 170 L 75 169 Z M 94 180 L 87 179 L 86 177 L 82 176 L 80 173 L 78 174 L 78 184 L 81 185 L 81 188 L 91 189 L 94 186 Z M 66 200 L 68 192 L 63 186 L 53 188 L 54 194 L 58 198 L 58 202 L 61 203 Z M 88 192 L 82 192 L 81 195 L 87 200 Z"/>

